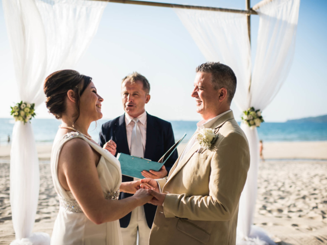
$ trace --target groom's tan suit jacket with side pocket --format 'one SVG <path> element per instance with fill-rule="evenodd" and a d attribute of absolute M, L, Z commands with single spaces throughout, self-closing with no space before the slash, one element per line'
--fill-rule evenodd
<path fill-rule="evenodd" d="M 198 153 L 196 142 L 168 178 L 157 180 L 167 195 L 157 208 L 150 245 L 236 244 L 249 146 L 231 111 L 211 128 L 218 134 L 211 149 Z"/>

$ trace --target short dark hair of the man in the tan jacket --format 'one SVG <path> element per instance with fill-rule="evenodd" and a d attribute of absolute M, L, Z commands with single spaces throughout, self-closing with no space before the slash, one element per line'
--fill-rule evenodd
<path fill-rule="evenodd" d="M 233 70 L 220 62 L 206 62 L 196 67 L 196 72 L 211 74 L 211 82 L 215 89 L 227 89 L 227 102 L 230 104 L 236 91 L 236 76 Z"/>

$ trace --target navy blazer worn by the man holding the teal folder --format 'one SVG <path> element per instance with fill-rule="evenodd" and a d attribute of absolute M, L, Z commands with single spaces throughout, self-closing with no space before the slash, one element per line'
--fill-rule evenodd
<path fill-rule="evenodd" d="M 130 155 L 126 134 L 125 114 L 111 121 L 107 121 L 102 125 L 99 136 L 99 144 L 101 147 L 110 139 L 117 144 L 115 157 L 118 153 Z M 157 162 L 174 144 L 175 139 L 171 123 L 147 113 L 147 140 L 144 158 Z M 165 163 L 168 173 L 177 158 L 178 153 L 177 150 L 175 150 Z M 133 178 L 123 175 L 122 181 L 133 181 Z M 133 194 L 121 192 L 119 199 L 128 198 L 132 195 Z M 147 203 L 144 205 L 145 216 L 149 228 L 152 227 L 156 209 L 157 206 L 152 204 Z M 131 212 L 119 220 L 121 227 L 128 227 L 130 219 Z"/>

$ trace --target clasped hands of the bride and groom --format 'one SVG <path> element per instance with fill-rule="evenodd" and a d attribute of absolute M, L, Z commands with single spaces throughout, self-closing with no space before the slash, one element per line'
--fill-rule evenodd
<path fill-rule="evenodd" d="M 120 187 L 121 191 L 134 194 L 139 189 L 146 189 L 152 195 L 152 199 L 148 202 L 156 206 L 162 206 L 165 201 L 166 194 L 159 193 L 159 186 L 156 180 L 147 178 L 141 181 L 123 182 Z"/>

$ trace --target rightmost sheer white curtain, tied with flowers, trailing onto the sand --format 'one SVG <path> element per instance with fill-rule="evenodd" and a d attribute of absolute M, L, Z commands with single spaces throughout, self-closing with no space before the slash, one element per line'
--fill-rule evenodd
<path fill-rule="evenodd" d="M 258 44 L 247 107 L 264 110 L 285 82 L 294 57 L 300 0 L 266 1 L 260 9 Z M 260 4 L 260 3 L 259 3 Z M 258 227 L 252 226 L 257 194 L 259 138 L 255 129 L 242 124 L 250 145 L 251 163 L 240 200 L 239 244 L 274 244 Z M 259 239 L 258 239 L 259 238 Z M 261 242 L 264 243 L 258 243 Z"/>

